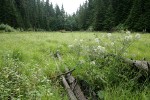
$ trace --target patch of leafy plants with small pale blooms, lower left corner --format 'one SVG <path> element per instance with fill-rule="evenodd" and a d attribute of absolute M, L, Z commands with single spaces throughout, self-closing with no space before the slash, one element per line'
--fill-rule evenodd
<path fill-rule="evenodd" d="M 28 93 L 28 79 L 22 74 L 23 63 L 16 60 L 20 55 L 5 54 L 0 66 L 0 99 L 26 98 Z"/>

